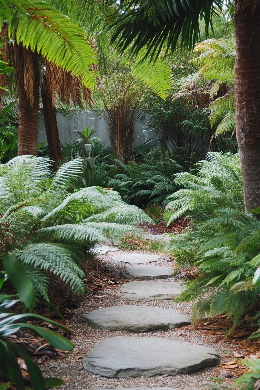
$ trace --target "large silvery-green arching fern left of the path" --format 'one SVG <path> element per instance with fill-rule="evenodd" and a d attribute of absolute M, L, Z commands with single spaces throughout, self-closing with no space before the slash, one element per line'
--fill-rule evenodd
<path fill-rule="evenodd" d="M 49 273 L 83 293 L 80 264 L 86 263 L 86 250 L 150 220 L 115 191 L 88 187 L 69 192 L 82 172 L 81 158 L 55 174 L 45 157 L 19 156 L 0 165 L 0 258 L 12 250 L 47 301 Z"/>

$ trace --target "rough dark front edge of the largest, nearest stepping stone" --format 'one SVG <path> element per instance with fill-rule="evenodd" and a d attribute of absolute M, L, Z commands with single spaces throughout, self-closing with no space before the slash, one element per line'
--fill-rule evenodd
<path fill-rule="evenodd" d="M 133 368 L 133 369 L 110 369 L 106 367 L 98 367 L 96 365 L 93 365 L 88 361 L 88 358 L 85 356 L 82 360 L 83 367 L 89 371 L 92 372 L 92 374 L 98 374 L 107 378 L 136 378 L 139 376 L 147 376 L 152 377 L 156 375 L 170 375 L 170 376 L 176 376 L 179 374 L 189 374 L 191 372 L 198 371 L 200 369 L 206 368 L 206 367 L 213 367 L 214 365 L 218 364 L 218 354 L 207 354 L 211 355 L 209 358 L 204 359 L 200 363 L 195 363 L 193 365 L 190 365 L 188 367 L 182 367 L 178 369 L 177 367 L 170 366 L 164 367 L 162 369 L 161 366 L 154 367 L 153 369 L 140 369 L 140 368 Z"/>

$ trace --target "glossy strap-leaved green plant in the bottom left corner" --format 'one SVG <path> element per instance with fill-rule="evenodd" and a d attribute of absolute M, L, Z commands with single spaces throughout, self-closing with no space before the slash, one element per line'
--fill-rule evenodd
<path fill-rule="evenodd" d="M 34 390 L 44 390 L 63 385 L 64 381 L 59 378 L 43 378 L 38 365 L 30 358 L 28 352 L 21 345 L 10 339 L 10 336 L 19 330 L 31 332 L 35 336 L 43 337 L 51 346 L 62 351 L 71 351 L 73 343 L 56 332 L 42 326 L 27 323 L 28 317 L 41 319 L 53 324 L 65 331 L 69 331 L 65 326 L 50 319 L 33 313 L 14 313 L 10 309 L 15 305 L 23 304 L 28 310 L 34 306 L 35 293 L 32 282 L 28 279 L 23 266 L 18 259 L 10 252 L 3 258 L 4 271 L 0 272 L 0 289 L 7 277 L 14 285 L 18 294 L 0 294 L 0 373 L 9 383 L 0 386 L 3 389 L 9 388 L 11 383 L 15 383 L 17 390 L 25 390 L 32 387 Z M 12 309 L 11 309 L 12 310 Z M 30 379 L 26 380 L 21 374 L 17 361 L 17 356 L 24 360 Z"/>

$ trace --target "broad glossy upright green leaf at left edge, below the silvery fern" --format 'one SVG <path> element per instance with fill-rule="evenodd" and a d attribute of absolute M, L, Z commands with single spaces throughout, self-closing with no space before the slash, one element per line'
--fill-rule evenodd
<path fill-rule="evenodd" d="M 18 292 L 21 301 L 32 310 L 34 307 L 35 293 L 32 282 L 27 277 L 19 260 L 10 252 L 3 256 L 4 268 L 11 283 Z"/>

